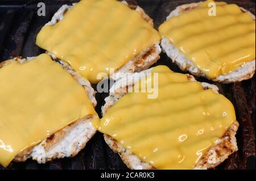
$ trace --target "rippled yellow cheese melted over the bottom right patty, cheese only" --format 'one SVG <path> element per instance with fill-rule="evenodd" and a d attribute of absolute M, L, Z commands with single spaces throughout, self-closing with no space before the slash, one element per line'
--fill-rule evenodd
<path fill-rule="evenodd" d="M 158 98 L 130 92 L 93 125 L 156 169 L 193 169 L 236 120 L 234 107 L 223 95 L 204 90 L 185 74 L 166 66 L 152 72 L 158 73 Z M 154 76 L 135 85 L 151 85 Z"/>

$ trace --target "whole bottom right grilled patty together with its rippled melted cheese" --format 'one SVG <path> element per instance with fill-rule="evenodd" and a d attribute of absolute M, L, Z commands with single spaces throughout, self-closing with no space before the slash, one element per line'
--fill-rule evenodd
<path fill-rule="evenodd" d="M 238 150 L 232 103 L 192 75 L 167 66 L 129 74 L 105 102 L 93 125 L 130 169 L 210 169 Z"/>

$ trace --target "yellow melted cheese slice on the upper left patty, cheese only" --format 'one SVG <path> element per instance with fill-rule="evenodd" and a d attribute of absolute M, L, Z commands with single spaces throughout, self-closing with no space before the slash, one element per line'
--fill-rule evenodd
<path fill-rule="evenodd" d="M 36 44 L 97 83 L 98 73 L 109 75 L 159 40 L 158 31 L 123 3 L 82 0 L 59 23 L 43 27 Z"/>

